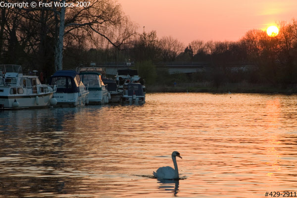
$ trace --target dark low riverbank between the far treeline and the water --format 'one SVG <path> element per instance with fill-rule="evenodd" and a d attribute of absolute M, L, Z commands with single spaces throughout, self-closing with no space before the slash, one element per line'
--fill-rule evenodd
<path fill-rule="evenodd" d="M 250 83 L 226 83 L 215 87 L 208 82 L 203 83 L 177 83 L 176 86 L 151 85 L 146 86 L 147 93 L 253 93 L 253 94 L 297 94 L 297 85 L 284 87 L 282 85 L 264 85 Z"/>

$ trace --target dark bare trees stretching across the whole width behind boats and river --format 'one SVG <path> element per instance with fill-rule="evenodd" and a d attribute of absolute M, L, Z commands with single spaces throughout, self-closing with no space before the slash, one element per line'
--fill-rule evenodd
<path fill-rule="evenodd" d="M 67 1 L 68 2 L 68 1 Z M 88 8 L 67 8 L 62 48 L 63 69 L 91 62 L 134 62 L 148 84 L 174 82 L 247 82 L 284 88 L 297 84 L 297 20 L 279 22 L 280 33 L 249 30 L 231 41 L 195 40 L 185 46 L 156 31 L 136 34 L 135 27 L 113 0 L 91 1 Z M 100 2 L 100 3 L 99 3 Z M 0 7 L 0 64 L 20 64 L 49 77 L 57 69 L 61 8 Z M 169 61 L 209 63 L 205 72 L 169 75 Z M 149 78 L 149 80 L 148 80 Z"/>

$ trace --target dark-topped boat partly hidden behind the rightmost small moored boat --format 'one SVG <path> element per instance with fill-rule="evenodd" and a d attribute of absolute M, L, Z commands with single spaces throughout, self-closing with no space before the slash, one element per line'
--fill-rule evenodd
<path fill-rule="evenodd" d="M 146 86 L 144 85 L 144 79 L 138 75 L 137 69 L 118 69 L 115 80 L 118 85 L 119 92 L 123 92 L 124 86 L 129 83 L 140 83 L 143 89 L 144 102 L 146 101 Z"/>

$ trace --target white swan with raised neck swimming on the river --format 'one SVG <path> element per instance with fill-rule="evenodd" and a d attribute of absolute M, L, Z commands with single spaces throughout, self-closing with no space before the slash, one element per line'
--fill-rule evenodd
<path fill-rule="evenodd" d="M 152 172 L 153 176 L 157 179 L 179 179 L 176 156 L 182 158 L 178 151 L 172 152 L 171 157 L 174 164 L 174 169 L 170 166 L 160 167 L 156 172 Z"/>

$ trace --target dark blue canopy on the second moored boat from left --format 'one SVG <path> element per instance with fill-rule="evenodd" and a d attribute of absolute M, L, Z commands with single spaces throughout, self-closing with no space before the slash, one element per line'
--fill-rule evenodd
<path fill-rule="evenodd" d="M 49 79 L 50 85 L 57 85 L 57 92 L 78 93 L 79 87 L 84 86 L 80 76 L 73 70 L 56 71 Z"/>

